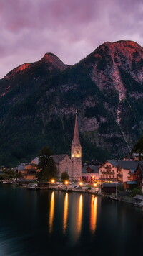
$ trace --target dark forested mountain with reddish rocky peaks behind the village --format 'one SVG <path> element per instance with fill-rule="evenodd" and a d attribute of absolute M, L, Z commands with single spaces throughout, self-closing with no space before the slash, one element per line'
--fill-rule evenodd
<path fill-rule="evenodd" d="M 51 53 L 0 80 L 1 163 L 49 145 L 70 153 L 75 109 L 84 160 L 127 154 L 143 132 L 143 48 L 105 42 L 69 66 Z"/>

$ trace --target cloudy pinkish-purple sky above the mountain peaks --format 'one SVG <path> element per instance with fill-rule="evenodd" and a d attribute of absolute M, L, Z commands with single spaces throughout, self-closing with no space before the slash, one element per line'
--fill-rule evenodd
<path fill-rule="evenodd" d="M 143 47 L 143 0 L 0 0 L 0 78 L 46 52 L 74 65 L 117 40 Z"/>

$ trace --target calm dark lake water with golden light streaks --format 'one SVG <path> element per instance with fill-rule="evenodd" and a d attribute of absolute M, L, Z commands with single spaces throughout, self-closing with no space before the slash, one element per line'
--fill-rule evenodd
<path fill-rule="evenodd" d="M 81 193 L 0 186 L 0 256 L 143 255 L 143 211 Z"/>

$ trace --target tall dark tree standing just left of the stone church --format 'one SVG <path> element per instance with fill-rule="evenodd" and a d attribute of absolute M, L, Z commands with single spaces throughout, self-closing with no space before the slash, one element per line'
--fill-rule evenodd
<path fill-rule="evenodd" d="M 47 146 L 43 147 L 39 152 L 38 168 L 41 169 L 41 171 L 37 173 L 39 181 L 50 181 L 53 178 L 57 178 L 58 171 L 51 157 L 52 154 L 53 152 Z"/>

